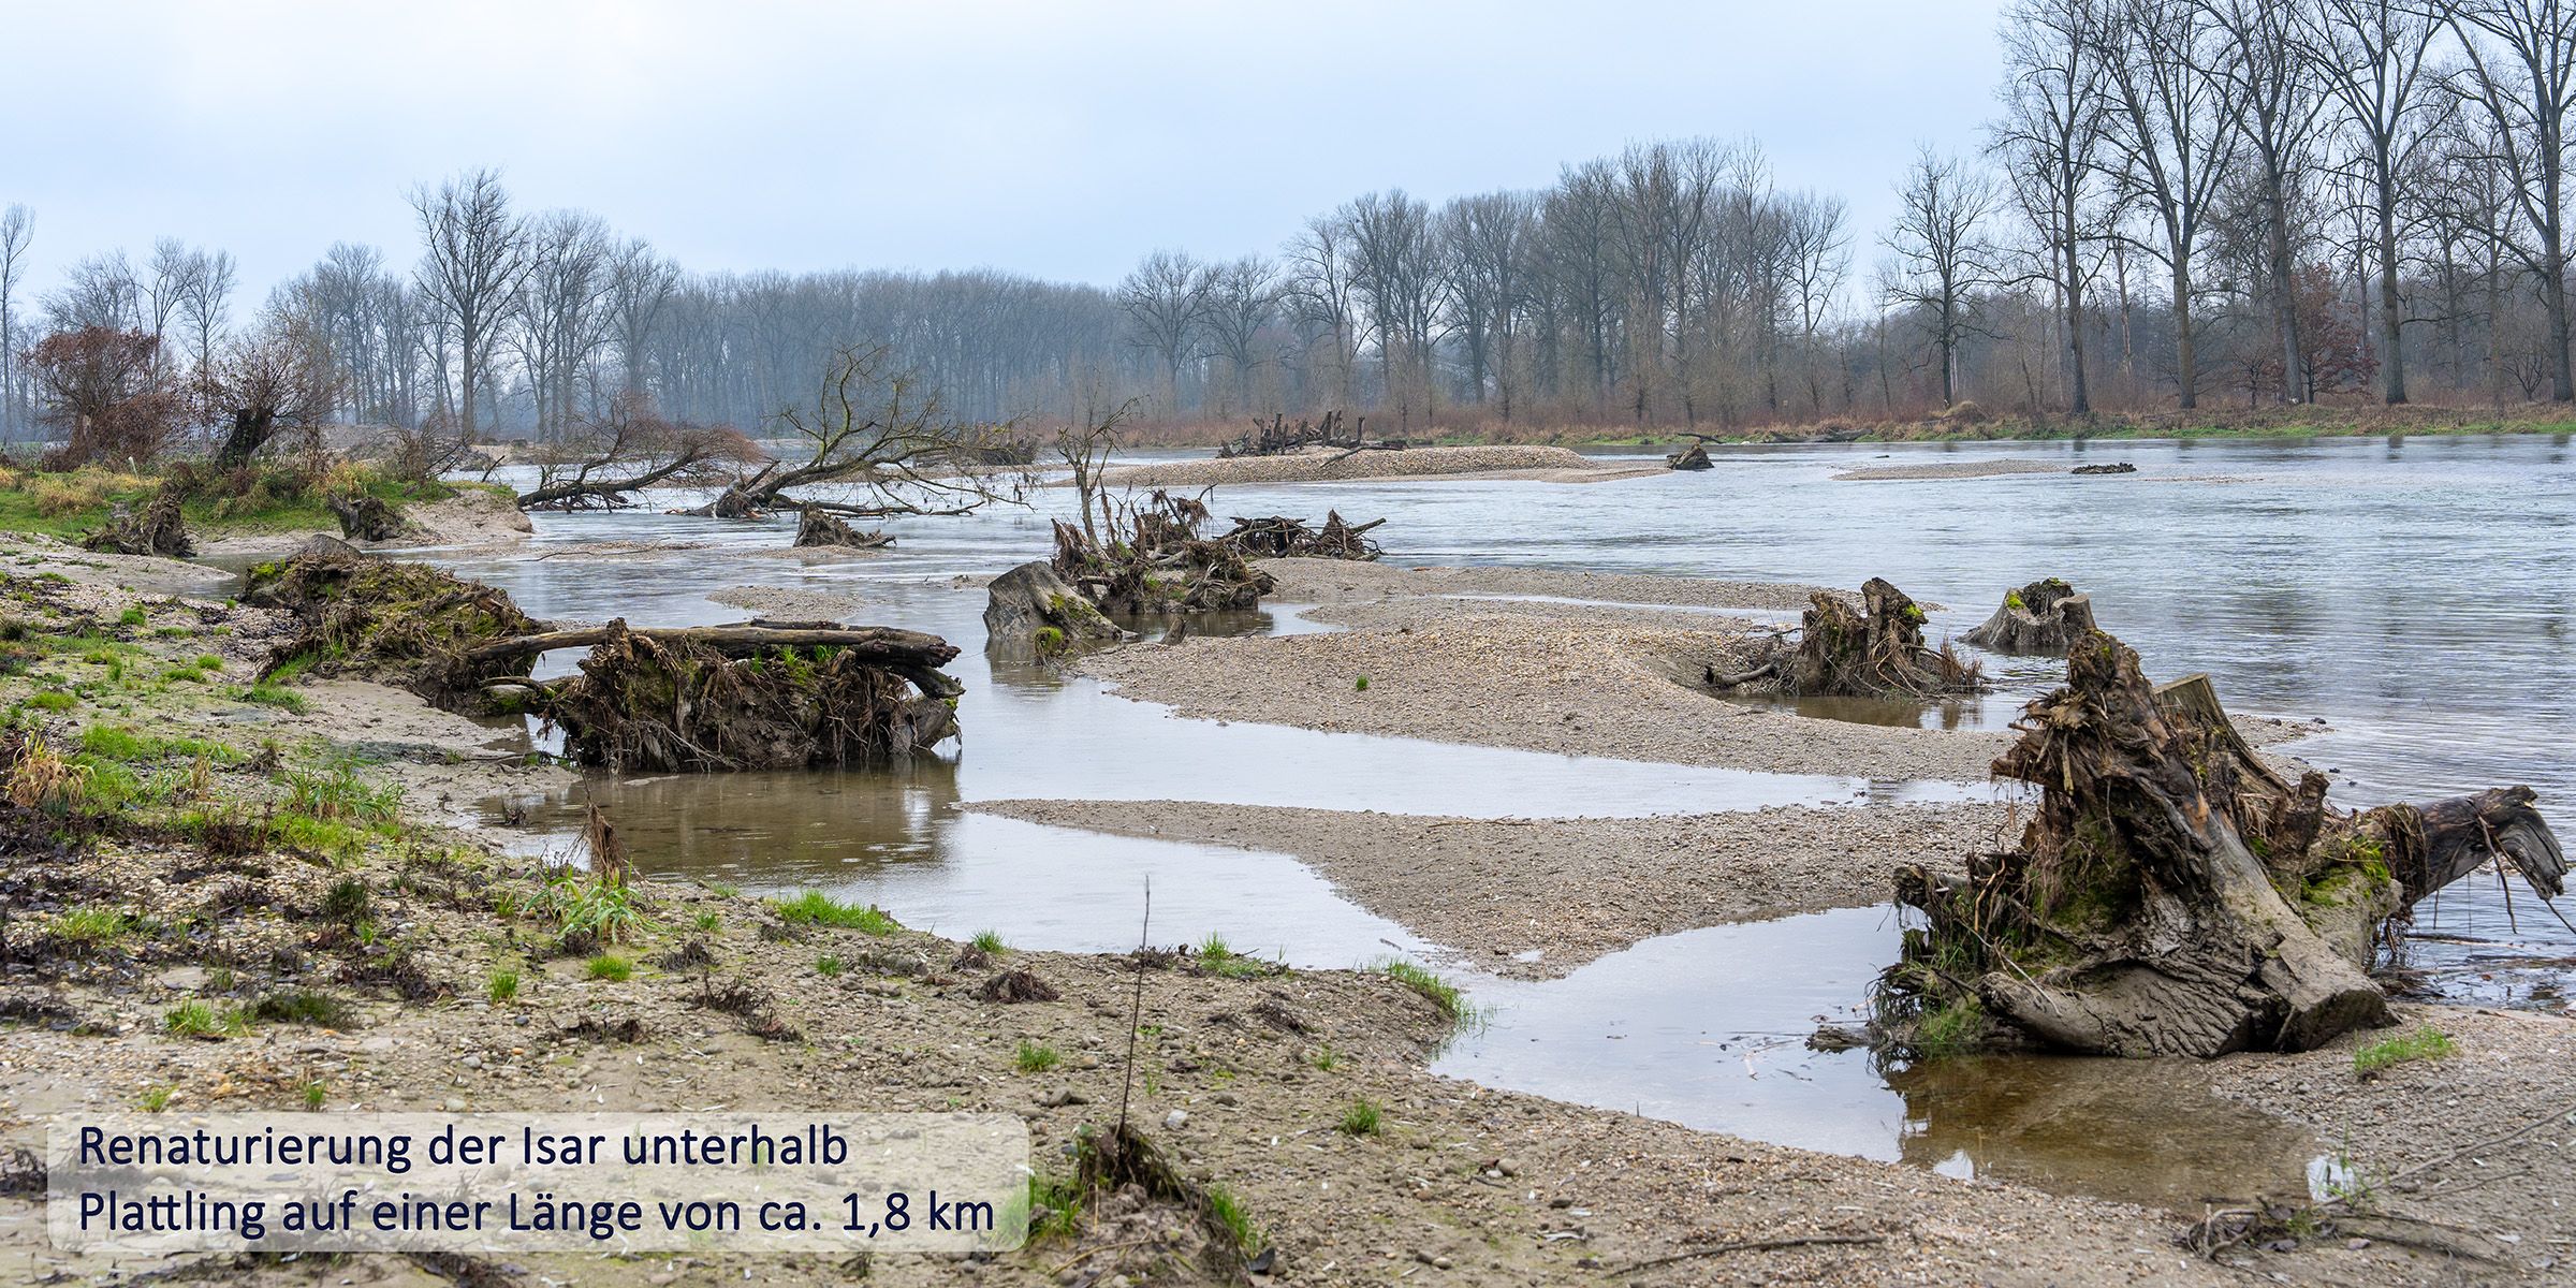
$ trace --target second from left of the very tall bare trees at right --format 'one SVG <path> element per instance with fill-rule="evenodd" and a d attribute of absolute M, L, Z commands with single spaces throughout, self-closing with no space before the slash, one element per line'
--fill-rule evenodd
<path fill-rule="evenodd" d="M 2208 70 L 2213 31 L 2192 0 L 2112 0 L 2097 41 L 2117 121 L 2110 175 L 2156 224 L 2154 240 L 2133 245 L 2172 278 L 2174 392 L 2197 407 L 2192 265 L 2236 155 L 2241 103 L 2233 82 Z"/>

